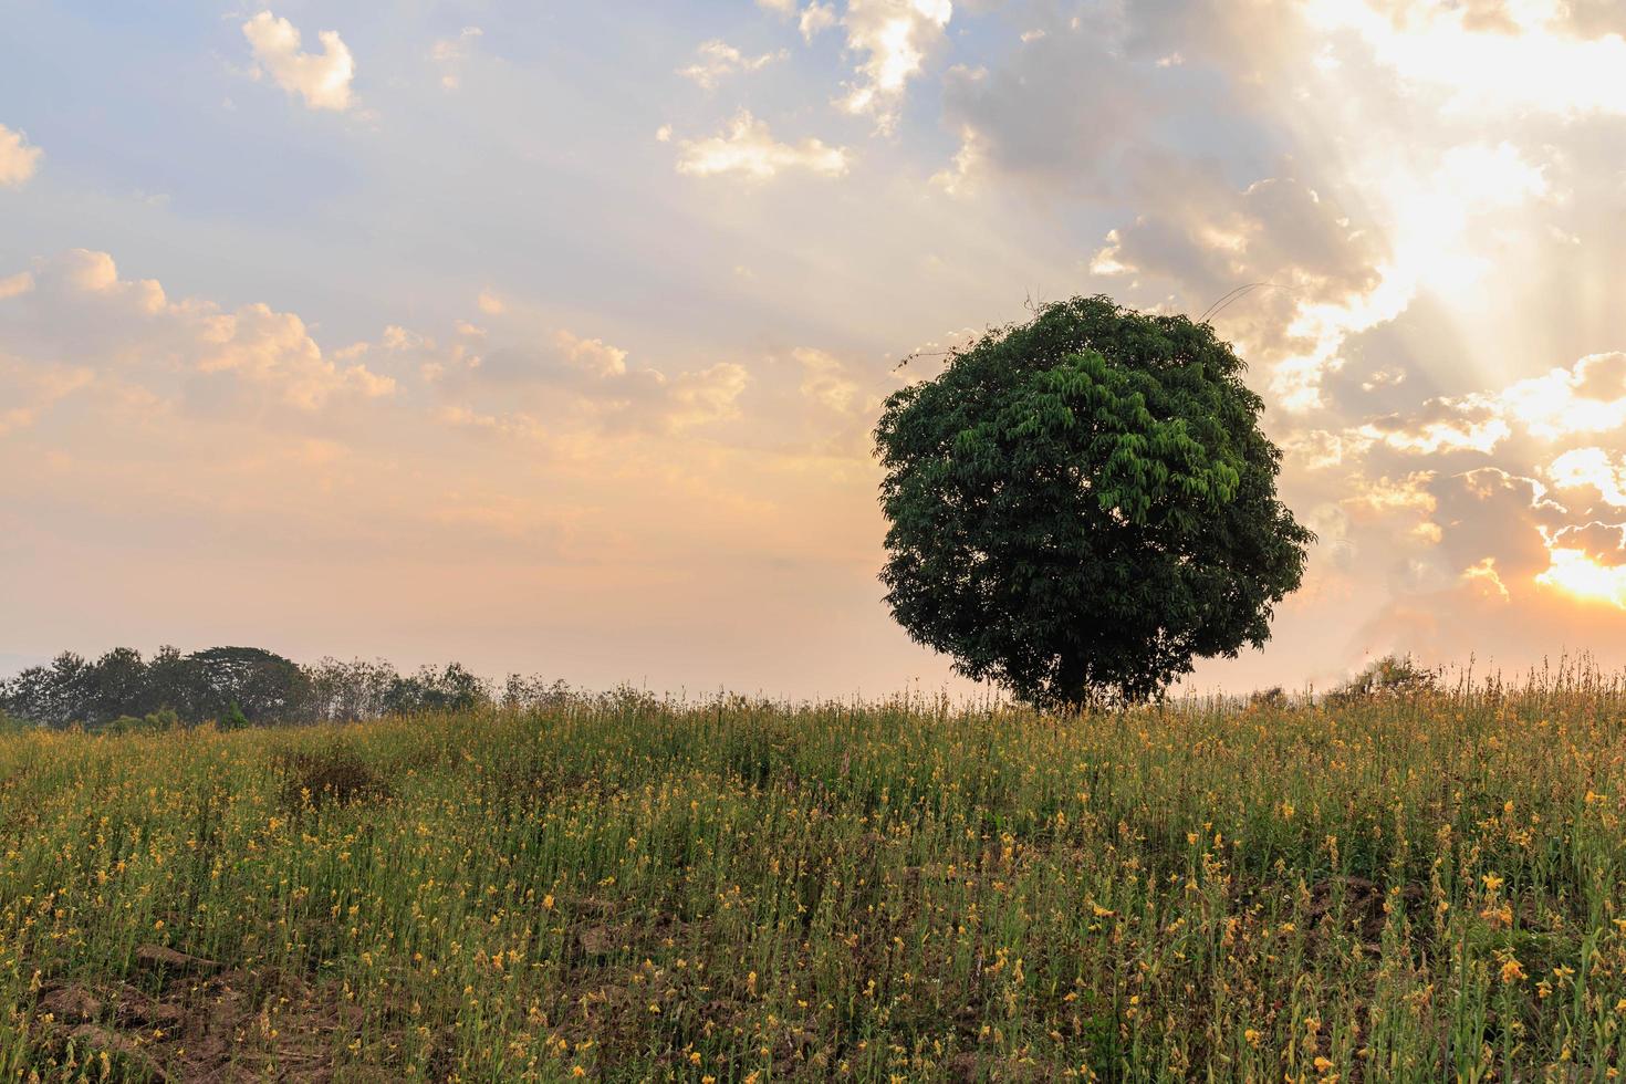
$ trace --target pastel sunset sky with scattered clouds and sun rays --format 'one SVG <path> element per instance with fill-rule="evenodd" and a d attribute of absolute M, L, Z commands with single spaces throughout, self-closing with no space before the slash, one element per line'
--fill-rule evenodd
<path fill-rule="evenodd" d="M 870 431 L 1078 294 L 1213 310 L 1320 536 L 1190 687 L 1626 665 L 1619 0 L 0 24 L 0 671 L 966 691 L 881 600 Z"/>

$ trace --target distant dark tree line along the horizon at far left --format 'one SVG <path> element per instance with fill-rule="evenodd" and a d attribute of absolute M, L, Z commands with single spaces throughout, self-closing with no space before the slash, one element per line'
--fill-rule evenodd
<path fill-rule="evenodd" d="M 324 658 L 302 666 L 259 647 L 211 647 L 151 658 L 117 647 L 88 660 L 72 652 L 0 681 L 0 713 L 41 726 L 166 728 L 319 723 L 460 712 L 501 704 L 527 709 L 569 697 L 564 683 L 512 674 L 496 687 L 460 663 L 402 674 L 384 660 Z"/>

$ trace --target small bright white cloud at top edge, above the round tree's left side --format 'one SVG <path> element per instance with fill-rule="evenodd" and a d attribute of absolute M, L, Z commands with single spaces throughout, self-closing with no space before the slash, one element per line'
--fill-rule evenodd
<path fill-rule="evenodd" d="M 847 86 L 841 107 L 875 119 L 876 128 L 891 132 L 898 124 L 904 89 L 920 75 L 925 59 L 946 41 L 954 15 L 950 0 L 847 0 L 841 26 L 847 49 L 863 55 L 857 81 Z M 802 31 L 811 37 L 823 16 Z"/>

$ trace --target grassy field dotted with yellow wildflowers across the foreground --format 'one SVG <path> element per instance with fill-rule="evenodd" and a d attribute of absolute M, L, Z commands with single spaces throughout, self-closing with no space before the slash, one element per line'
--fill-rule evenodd
<path fill-rule="evenodd" d="M 1597 681 L 15 733 L 0 1074 L 1613 1079 L 1623 756 Z"/>

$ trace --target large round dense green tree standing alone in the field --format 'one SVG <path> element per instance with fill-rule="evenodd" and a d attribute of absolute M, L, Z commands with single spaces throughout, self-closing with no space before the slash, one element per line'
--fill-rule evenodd
<path fill-rule="evenodd" d="M 1039 705 L 1141 700 L 1270 637 L 1315 536 L 1206 323 L 1049 304 L 894 392 L 881 572 L 911 637 Z"/>

